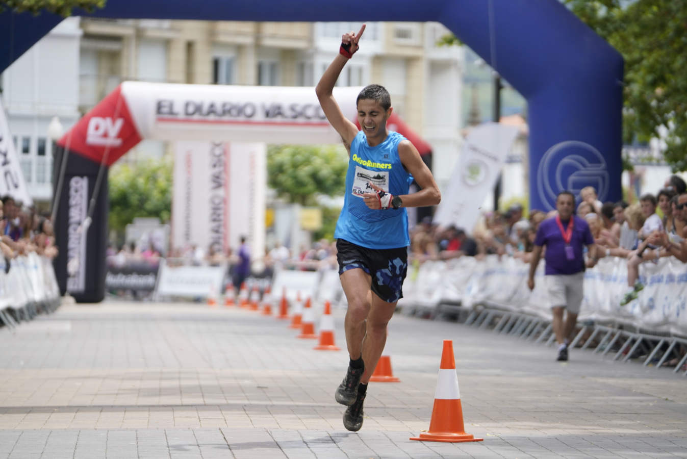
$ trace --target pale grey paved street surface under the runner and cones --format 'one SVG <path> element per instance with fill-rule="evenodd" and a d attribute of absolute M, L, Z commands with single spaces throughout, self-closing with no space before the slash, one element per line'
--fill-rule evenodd
<path fill-rule="evenodd" d="M 684 377 L 403 315 L 385 350 L 401 382 L 371 383 L 348 432 L 346 351 L 297 334 L 243 309 L 130 302 L 0 330 L 0 458 L 687 457 Z M 443 339 L 484 442 L 409 440 L 429 427 Z"/>

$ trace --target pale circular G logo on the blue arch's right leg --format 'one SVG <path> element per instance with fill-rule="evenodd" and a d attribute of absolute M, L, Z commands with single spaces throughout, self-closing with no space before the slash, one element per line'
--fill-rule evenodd
<path fill-rule="evenodd" d="M 537 169 L 537 192 L 547 210 L 556 208 L 556 194 L 569 190 L 577 197 L 593 186 L 600 201 L 609 189 L 608 166 L 599 150 L 586 142 L 565 140 L 544 153 Z"/>

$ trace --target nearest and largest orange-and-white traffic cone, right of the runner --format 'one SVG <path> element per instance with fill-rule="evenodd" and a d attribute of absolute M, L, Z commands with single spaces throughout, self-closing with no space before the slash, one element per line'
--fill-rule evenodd
<path fill-rule="evenodd" d="M 465 433 L 463 407 L 460 403 L 458 374 L 455 373 L 453 341 L 451 339 L 444 339 L 429 430 L 420 434 L 419 437 L 411 437 L 410 439 L 451 443 L 484 440 L 484 438 L 475 438 L 475 436 Z"/>

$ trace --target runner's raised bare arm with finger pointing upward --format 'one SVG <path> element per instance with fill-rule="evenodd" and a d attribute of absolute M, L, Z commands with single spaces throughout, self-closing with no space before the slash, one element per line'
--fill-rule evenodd
<path fill-rule="evenodd" d="M 322 107 L 322 111 L 324 111 L 327 120 L 332 127 L 336 129 L 337 133 L 341 135 L 343 143 L 348 145 L 350 145 L 355 136 L 358 135 L 358 128 L 341 113 L 339 104 L 337 104 L 333 96 L 333 90 L 339 79 L 339 74 L 341 74 L 341 70 L 343 70 L 343 66 L 346 65 L 348 59 L 358 50 L 358 41 L 364 31 L 365 24 L 360 27 L 358 34 L 348 32 L 348 34 L 344 34 L 341 37 L 341 50 L 339 54 L 337 54 L 326 71 L 324 71 L 322 78 L 320 78 L 317 83 L 317 87 L 315 87 L 319 105 Z"/>

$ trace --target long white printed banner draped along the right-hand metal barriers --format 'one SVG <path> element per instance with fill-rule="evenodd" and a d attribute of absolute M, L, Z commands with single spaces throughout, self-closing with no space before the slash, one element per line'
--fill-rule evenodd
<path fill-rule="evenodd" d="M 447 262 L 425 262 L 409 269 L 403 284 L 403 304 L 435 307 L 458 302 L 471 308 L 486 303 L 499 309 L 551 319 L 543 262 L 527 287 L 530 265 L 510 257 L 487 256 L 484 260 L 461 257 Z M 640 265 L 644 289 L 625 306 L 620 300 L 627 287 L 627 260 L 602 258 L 585 271 L 584 300 L 579 320 L 624 323 L 655 332 L 687 334 L 687 273 L 684 263 L 661 258 Z"/>

